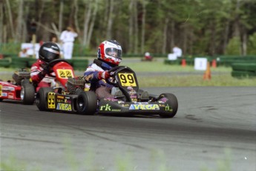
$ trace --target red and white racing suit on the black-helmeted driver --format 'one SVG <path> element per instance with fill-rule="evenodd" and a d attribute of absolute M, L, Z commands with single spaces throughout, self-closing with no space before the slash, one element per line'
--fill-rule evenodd
<path fill-rule="evenodd" d="M 56 84 L 55 78 L 48 76 L 44 73 L 44 67 L 46 63 L 40 59 L 38 59 L 31 67 L 30 77 L 34 84 L 37 84 L 36 92 L 41 87 L 54 87 Z M 51 75 L 55 76 L 55 73 L 50 73 Z"/>

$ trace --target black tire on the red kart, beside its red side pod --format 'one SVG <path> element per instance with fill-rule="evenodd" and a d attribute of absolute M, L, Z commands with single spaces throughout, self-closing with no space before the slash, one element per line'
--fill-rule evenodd
<path fill-rule="evenodd" d="M 22 81 L 21 99 L 22 104 L 32 105 L 35 101 L 35 88 L 28 79 Z"/>

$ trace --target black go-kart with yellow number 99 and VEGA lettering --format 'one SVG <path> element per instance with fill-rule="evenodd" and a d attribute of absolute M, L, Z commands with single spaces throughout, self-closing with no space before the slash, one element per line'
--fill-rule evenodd
<path fill-rule="evenodd" d="M 178 101 L 174 94 L 162 93 L 143 97 L 136 74 L 129 67 L 114 67 L 109 70 L 108 84 L 119 88 L 122 95 L 97 99 L 93 91 L 83 91 L 82 78 L 69 78 L 72 93 L 56 93 L 50 88 L 41 88 L 36 95 L 39 110 L 55 110 L 82 115 L 160 115 L 172 118 L 177 113 Z M 78 81 L 78 82 L 76 82 Z M 79 84 L 78 84 L 79 83 Z"/>

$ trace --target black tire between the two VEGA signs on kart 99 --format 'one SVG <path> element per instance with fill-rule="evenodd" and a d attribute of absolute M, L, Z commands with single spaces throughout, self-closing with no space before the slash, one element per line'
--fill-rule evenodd
<path fill-rule="evenodd" d="M 93 115 L 97 109 L 97 97 L 93 92 L 81 92 L 76 100 L 77 113 L 82 115 Z"/>

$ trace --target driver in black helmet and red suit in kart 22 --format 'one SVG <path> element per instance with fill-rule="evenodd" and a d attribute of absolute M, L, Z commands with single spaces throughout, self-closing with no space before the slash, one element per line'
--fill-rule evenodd
<path fill-rule="evenodd" d="M 53 87 L 56 82 L 55 78 L 48 76 L 50 72 L 49 68 L 46 68 L 47 64 L 54 59 L 59 58 L 60 50 L 56 43 L 47 41 L 39 49 L 39 59 L 32 65 L 30 71 L 30 77 L 34 84 L 37 84 L 36 92 L 41 87 Z M 55 76 L 54 72 L 50 72 L 50 75 Z"/>

